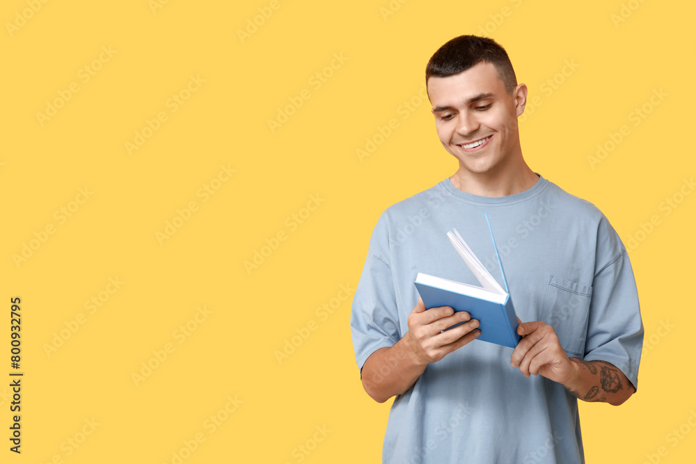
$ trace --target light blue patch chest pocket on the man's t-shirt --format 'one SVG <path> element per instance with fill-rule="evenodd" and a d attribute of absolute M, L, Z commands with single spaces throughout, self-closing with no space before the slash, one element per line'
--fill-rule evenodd
<path fill-rule="evenodd" d="M 592 287 L 548 276 L 541 320 L 553 327 L 561 346 L 570 356 L 582 358 L 585 355 L 591 300 Z"/>

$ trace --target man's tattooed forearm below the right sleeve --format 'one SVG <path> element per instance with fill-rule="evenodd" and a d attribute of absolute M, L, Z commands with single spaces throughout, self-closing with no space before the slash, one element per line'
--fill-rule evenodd
<path fill-rule="evenodd" d="M 635 392 L 624 373 L 610 362 L 571 358 L 571 363 L 574 375 L 562 384 L 583 401 L 603 401 L 619 406 Z"/>

